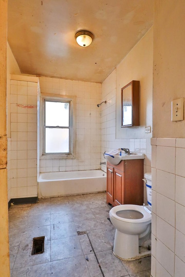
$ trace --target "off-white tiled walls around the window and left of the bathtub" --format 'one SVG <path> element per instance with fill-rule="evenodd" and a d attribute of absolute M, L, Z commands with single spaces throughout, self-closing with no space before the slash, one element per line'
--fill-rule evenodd
<path fill-rule="evenodd" d="M 19 76 L 22 78 L 22 76 Z M 32 79 L 31 76 L 23 78 Z M 15 76 L 14 76 L 15 78 Z M 33 77 L 36 79 L 36 77 Z M 101 84 L 40 77 L 41 93 L 76 96 L 76 155 L 73 160 L 40 160 L 40 172 L 100 168 Z M 11 80 L 11 139 L 8 141 L 8 200 L 37 196 L 39 121 L 36 81 Z M 39 168 L 39 167 L 38 167 Z M 11 175 L 11 178 L 10 178 Z M 11 192 L 11 193 L 10 193 Z"/>

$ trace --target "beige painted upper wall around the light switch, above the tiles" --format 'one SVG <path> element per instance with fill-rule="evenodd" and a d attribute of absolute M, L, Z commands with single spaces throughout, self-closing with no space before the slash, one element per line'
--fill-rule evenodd
<path fill-rule="evenodd" d="M 185 120 L 171 121 L 171 101 L 185 97 L 184 0 L 155 1 L 153 137 L 185 137 Z"/>

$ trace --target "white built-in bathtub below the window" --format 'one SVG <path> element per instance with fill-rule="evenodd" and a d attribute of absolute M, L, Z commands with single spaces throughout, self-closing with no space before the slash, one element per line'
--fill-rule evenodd
<path fill-rule="evenodd" d="M 106 173 L 100 169 L 40 173 L 38 198 L 106 191 Z"/>

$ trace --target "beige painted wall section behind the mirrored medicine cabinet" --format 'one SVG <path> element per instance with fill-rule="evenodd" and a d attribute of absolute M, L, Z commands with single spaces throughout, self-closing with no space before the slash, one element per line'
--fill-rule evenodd
<path fill-rule="evenodd" d="M 116 68 L 116 139 L 149 139 L 145 126 L 152 126 L 153 27 Z M 140 126 L 121 128 L 121 88 L 140 81 Z"/>

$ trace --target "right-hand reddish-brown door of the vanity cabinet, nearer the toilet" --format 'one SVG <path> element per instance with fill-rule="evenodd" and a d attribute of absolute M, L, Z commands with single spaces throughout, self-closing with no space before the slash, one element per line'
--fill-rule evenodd
<path fill-rule="evenodd" d="M 114 203 L 115 205 L 123 204 L 124 194 L 124 173 L 114 168 Z"/>

